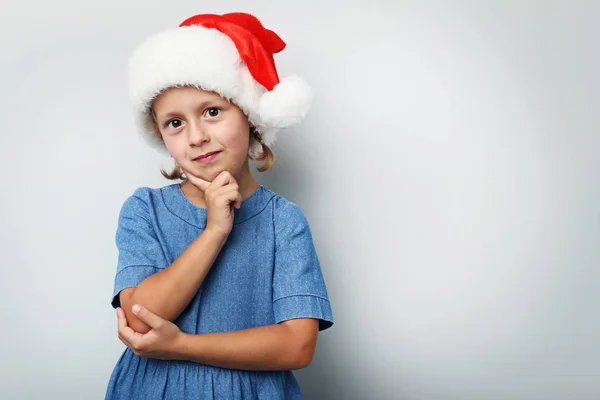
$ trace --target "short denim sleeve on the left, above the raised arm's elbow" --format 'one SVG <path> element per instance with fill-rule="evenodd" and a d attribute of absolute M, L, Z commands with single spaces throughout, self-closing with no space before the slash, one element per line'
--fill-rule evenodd
<path fill-rule="evenodd" d="M 165 256 L 151 222 L 147 196 L 138 189 L 119 213 L 115 241 L 118 249 L 112 306 L 120 307 L 119 293 L 135 287 L 166 267 Z"/>

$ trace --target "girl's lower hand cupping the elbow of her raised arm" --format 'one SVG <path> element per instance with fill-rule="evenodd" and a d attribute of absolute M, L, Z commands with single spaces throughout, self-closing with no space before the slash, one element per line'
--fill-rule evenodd
<path fill-rule="evenodd" d="M 133 306 L 133 312 L 151 328 L 150 331 L 146 334 L 135 332 L 127 325 L 125 312 L 117 308 L 119 339 L 140 357 L 178 359 L 177 348 L 184 336 L 179 327 L 142 306 Z"/>

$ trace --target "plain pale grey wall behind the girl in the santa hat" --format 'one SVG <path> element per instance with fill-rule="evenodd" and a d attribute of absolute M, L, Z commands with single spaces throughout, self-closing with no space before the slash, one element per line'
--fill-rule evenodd
<path fill-rule="evenodd" d="M 117 214 L 172 166 L 127 58 L 230 11 L 316 95 L 257 173 L 305 212 L 336 318 L 306 398 L 600 399 L 600 6 L 575 0 L 4 0 L 0 398 L 103 398 Z"/>

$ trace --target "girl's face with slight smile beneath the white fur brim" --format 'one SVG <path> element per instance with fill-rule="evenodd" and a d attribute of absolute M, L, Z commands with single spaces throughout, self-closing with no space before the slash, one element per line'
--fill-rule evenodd
<path fill-rule="evenodd" d="M 223 171 L 237 177 L 248 168 L 248 118 L 218 94 L 172 88 L 153 110 L 167 150 L 186 173 L 212 182 Z"/>

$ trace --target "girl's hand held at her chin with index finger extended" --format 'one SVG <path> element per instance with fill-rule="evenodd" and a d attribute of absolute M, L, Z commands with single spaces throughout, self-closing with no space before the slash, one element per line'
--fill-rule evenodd
<path fill-rule="evenodd" d="M 240 187 L 233 175 L 221 172 L 211 182 L 198 178 L 184 171 L 188 180 L 204 192 L 206 201 L 206 229 L 213 230 L 223 236 L 229 235 L 233 227 L 233 208 L 242 206 Z"/>

